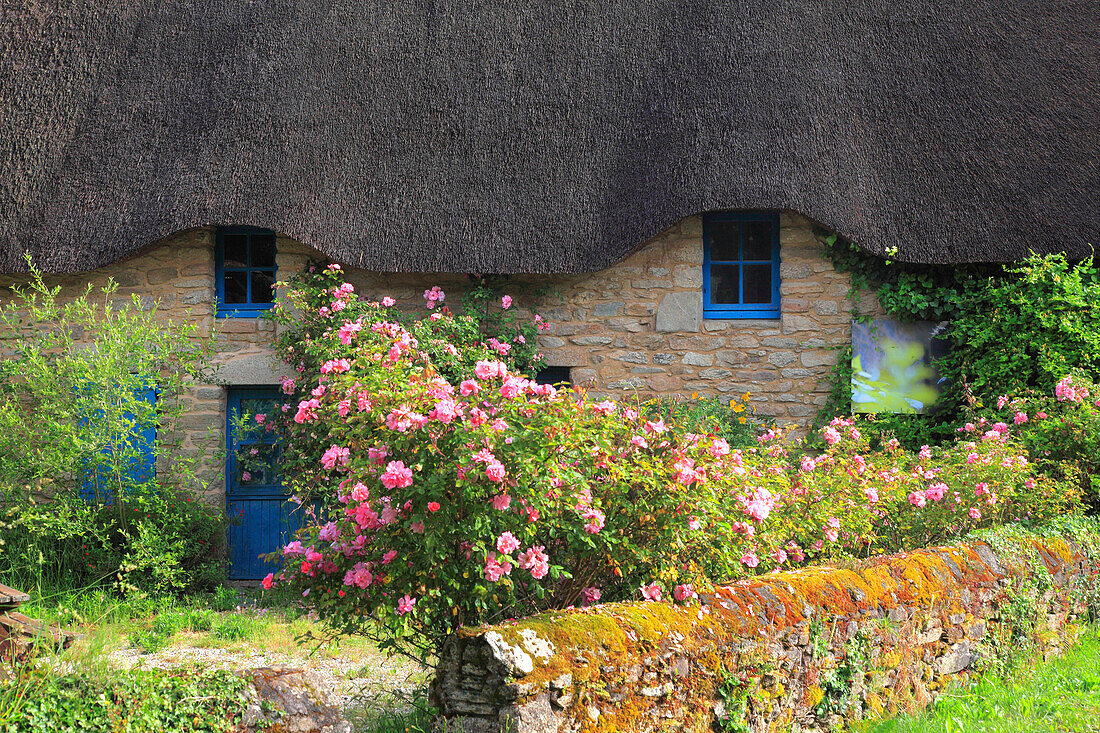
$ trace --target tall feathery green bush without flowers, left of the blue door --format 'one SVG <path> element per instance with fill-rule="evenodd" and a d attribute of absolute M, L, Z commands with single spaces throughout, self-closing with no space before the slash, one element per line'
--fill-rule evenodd
<path fill-rule="evenodd" d="M 202 482 L 172 445 L 182 394 L 211 379 L 211 339 L 117 297 L 114 283 L 59 295 L 32 269 L 0 306 L 0 579 L 217 580 L 222 513 L 194 499 Z M 139 470 L 150 452 L 155 475 Z"/>

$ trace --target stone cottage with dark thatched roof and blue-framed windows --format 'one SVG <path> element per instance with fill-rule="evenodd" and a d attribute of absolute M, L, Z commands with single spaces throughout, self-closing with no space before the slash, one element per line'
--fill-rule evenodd
<path fill-rule="evenodd" d="M 218 324 L 197 452 L 275 398 L 258 316 L 315 258 L 405 300 L 510 275 L 574 383 L 805 423 L 851 338 L 815 227 L 930 263 L 1100 239 L 1079 3 L 97 1 L 3 28 L 0 278 L 29 252 Z M 257 577 L 280 490 L 224 473 Z"/>

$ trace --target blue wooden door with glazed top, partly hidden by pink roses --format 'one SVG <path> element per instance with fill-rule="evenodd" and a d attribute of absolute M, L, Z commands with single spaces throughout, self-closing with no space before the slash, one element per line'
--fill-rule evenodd
<path fill-rule="evenodd" d="M 278 446 L 271 433 L 238 435 L 237 415 L 271 415 L 280 403 L 277 387 L 231 387 L 227 405 L 226 510 L 229 527 L 229 577 L 258 580 L 277 571 L 261 556 L 294 538 L 304 507 L 288 501 L 278 472 Z M 251 417 L 250 417 L 251 419 Z"/>

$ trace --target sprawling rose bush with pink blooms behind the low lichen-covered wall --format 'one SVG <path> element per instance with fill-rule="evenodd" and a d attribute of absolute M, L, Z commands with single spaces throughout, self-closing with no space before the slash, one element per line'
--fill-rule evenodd
<path fill-rule="evenodd" d="M 327 516 L 283 548 L 265 586 L 405 649 L 546 609 L 686 601 L 821 556 L 1037 518 L 1065 499 L 1008 426 L 913 455 L 871 451 L 838 418 L 820 455 L 783 431 L 735 449 L 522 376 L 514 342 L 439 308 L 438 288 L 421 318 L 361 300 L 336 265 L 280 293 L 298 371 L 279 422 L 287 479 Z M 538 320 L 512 328 L 530 342 Z"/>

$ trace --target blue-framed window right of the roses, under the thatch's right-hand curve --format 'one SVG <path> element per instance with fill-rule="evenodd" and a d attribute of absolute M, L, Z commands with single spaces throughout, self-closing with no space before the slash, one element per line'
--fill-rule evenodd
<path fill-rule="evenodd" d="M 779 318 L 779 214 L 703 216 L 703 317 Z"/>

